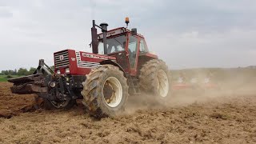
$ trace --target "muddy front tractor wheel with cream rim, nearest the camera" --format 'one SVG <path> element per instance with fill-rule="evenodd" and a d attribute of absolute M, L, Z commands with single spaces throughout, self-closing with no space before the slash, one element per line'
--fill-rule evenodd
<path fill-rule="evenodd" d="M 128 86 L 117 66 L 103 65 L 86 75 L 81 92 L 83 104 L 95 118 L 114 117 L 124 110 Z"/>

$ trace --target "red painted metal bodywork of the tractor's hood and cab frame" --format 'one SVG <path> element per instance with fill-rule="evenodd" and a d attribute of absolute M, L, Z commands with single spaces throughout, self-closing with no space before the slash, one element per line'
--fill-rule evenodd
<path fill-rule="evenodd" d="M 114 30 L 109 30 L 107 32 L 107 38 L 114 38 L 119 35 L 126 34 L 126 47 L 124 51 L 119 51 L 118 53 L 114 54 L 109 54 L 109 55 L 104 55 L 104 54 L 92 54 L 88 52 L 82 52 L 82 51 L 75 51 L 75 50 L 67 50 L 68 51 L 68 66 L 56 66 L 56 60 L 58 60 L 58 63 L 60 63 L 60 59 L 63 58 L 60 54 L 64 53 L 66 50 L 58 51 L 54 53 L 54 66 L 55 66 L 55 73 L 60 70 L 60 74 L 66 74 L 66 69 L 69 68 L 70 72 L 68 74 L 77 74 L 77 75 L 85 75 L 89 74 L 90 70 L 96 66 L 100 65 L 100 62 L 106 61 L 106 60 L 112 60 L 117 63 L 125 63 L 126 66 L 122 66 L 123 70 L 126 73 L 129 73 L 130 75 L 136 76 L 138 74 L 138 69 L 144 61 L 139 60 L 140 58 L 143 59 L 152 59 L 152 58 L 158 58 L 157 55 L 155 54 L 140 54 L 140 41 L 141 39 L 144 39 L 145 45 L 146 41 L 145 38 L 141 34 L 134 35 L 135 38 L 137 38 L 138 41 L 138 47 L 137 47 L 137 55 L 135 58 L 135 66 L 134 68 L 130 67 L 130 61 L 129 61 L 129 50 L 128 50 L 128 43 L 129 43 L 129 38 L 131 35 L 130 30 L 124 28 L 124 27 L 119 27 Z M 102 34 L 98 34 L 98 39 L 102 38 Z M 147 46 L 146 46 L 147 47 Z M 117 54 L 123 53 L 126 55 L 126 59 L 117 59 Z M 57 56 L 56 56 L 57 55 Z M 58 59 L 59 58 L 59 59 Z M 122 61 L 122 62 L 120 62 Z"/>

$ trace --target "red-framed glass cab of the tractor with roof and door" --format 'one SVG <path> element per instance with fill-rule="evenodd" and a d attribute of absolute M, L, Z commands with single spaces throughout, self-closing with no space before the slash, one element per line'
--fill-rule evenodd
<path fill-rule="evenodd" d="M 144 62 L 158 58 L 149 53 L 145 38 L 136 31 L 120 27 L 106 33 L 106 54 L 115 57 L 123 70 L 133 76 Z M 104 54 L 103 34 L 98 34 L 98 54 Z"/>

